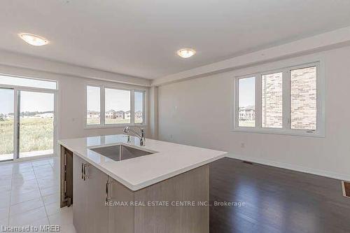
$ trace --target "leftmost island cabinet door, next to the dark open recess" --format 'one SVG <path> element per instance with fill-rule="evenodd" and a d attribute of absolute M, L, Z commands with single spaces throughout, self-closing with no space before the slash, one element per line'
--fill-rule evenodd
<path fill-rule="evenodd" d="M 85 233 L 86 181 L 82 178 L 82 165 L 86 162 L 73 155 L 73 225 L 77 233 Z"/>

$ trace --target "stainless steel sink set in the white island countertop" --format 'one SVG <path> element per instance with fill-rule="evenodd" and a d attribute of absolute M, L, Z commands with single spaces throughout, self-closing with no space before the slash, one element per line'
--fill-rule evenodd
<path fill-rule="evenodd" d="M 132 148 L 130 146 L 116 145 L 116 146 L 104 146 L 99 148 L 90 148 L 100 155 L 109 157 L 111 160 L 120 161 L 120 160 L 129 160 L 134 157 L 140 157 L 144 155 L 151 155 L 153 153 L 146 150 L 139 150 Z"/>

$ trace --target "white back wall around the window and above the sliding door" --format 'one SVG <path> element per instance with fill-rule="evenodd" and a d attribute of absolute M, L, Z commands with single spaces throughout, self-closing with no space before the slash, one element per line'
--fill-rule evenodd
<path fill-rule="evenodd" d="M 113 87 L 137 88 L 146 90 L 148 98 L 149 87 L 140 85 L 127 85 L 123 83 L 108 82 L 90 78 L 78 78 L 74 76 L 59 75 L 45 71 L 23 69 L 0 64 L 0 73 L 14 76 L 27 76 L 58 81 L 58 139 L 71 139 L 82 136 L 97 136 L 102 134 L 122 134 L 123 127 L 108 129 L 85 129 L 85 85 L 86 83 L 105 84 Z M 130 78 L 132 79 L 132 78 Z M 132 80 L 130 80 L 132 82 Z M 146 101 L 146 112 L 149 102 Z M 148 119 L 148 115 L 147 115 Z M 146 127 L 146 136 L 150 132 Z"/>

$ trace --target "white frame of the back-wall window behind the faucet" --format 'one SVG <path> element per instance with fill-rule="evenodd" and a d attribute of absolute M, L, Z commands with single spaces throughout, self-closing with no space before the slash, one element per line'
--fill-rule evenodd
<path fill-rule="evenodd" d="M 99 125 L 87 125 L 87 86 L 92 87 L 99 87 L 100 88 L 100 124 Z M 105 122 L 105 89 L 113 89 L 113 90 L 126 90 L 130 91 L 130 123 L 123 123 L 123 124 L 106 124 Z M 134 89 L 134 88 L 127 88 L 127 87 L 118 87 L 113 85 L 101 85 L 96 83 L 86 83 L 85 84 L 85 115 L 84 115 L 84 128 L 85 129 L 105 129 L 105 128 L 122 128 L 125 126 L 141 126 L 146 127 L 146 90 L 142 89 Z M 144 108 L 144 115 L 143 115 L 143 122 L 142 124 L 135 124 L 134 123 L 134 92 L 144 92 L 144 101 L 143 101 L 143 108 Z"/>

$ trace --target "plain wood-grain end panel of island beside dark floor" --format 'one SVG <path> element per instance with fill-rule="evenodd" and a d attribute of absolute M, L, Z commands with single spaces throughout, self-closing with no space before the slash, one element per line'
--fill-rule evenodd
<path fill-rule="evenodd" d="M 135 202 L 169 206 L 135 207 L 135 233 L 209 233 L 209 206 L 173 206 L 172 202 L 209 204 L 209 165 L 187 171 L 134 193 Z"/>

